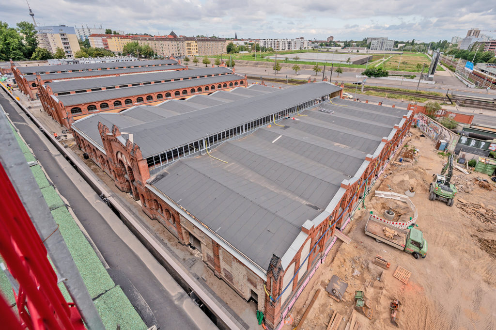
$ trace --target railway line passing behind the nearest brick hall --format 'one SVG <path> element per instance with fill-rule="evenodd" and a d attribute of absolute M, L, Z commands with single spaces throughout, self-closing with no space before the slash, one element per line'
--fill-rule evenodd
<path fill-rule="evenodd" d="M 257 76 L 248 76 L 247 78 L 252 80 L 263 80 L 265 82 L 286 83 L 286 79 L 279 79 L 279 78 L 270 78 L 270 77 L 266 78 L 266 77 L 257 77 Z M 307 81 L 305 80 L 288 80 L 288 82 L 298 85 L 307 83 Z M 364 86 L 364 91 L 374 91 L 374 92 L 381 92 L 388 94 L 423 97 L 430 100 L 438 100 L 438 101 L 443 101 L 445 99 L 445 96 L 429 95 L 429 94 L 416 93 L 416 92 L 404 92 L 404 91 L 390 90 L 380 87 L 372 88 L 372 87 Z M 476 97 L 476 96 L 451 93 L 449 97 L 451 98 L 451 101 L 453 101 L 457 106 L 472 107 L 472 108 L 479 108 L 486 110 L 496 110 L 496 100 L 491 99 L 490 97 L 487 96 Z"/>

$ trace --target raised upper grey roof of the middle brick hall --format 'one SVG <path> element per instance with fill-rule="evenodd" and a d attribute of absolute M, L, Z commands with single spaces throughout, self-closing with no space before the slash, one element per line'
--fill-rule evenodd
<path fill-rule="evenodd" d="M 81 89 L 102 88 L 109 86 L 120 86 L 124 84 L 153 82 L 157 80 L 170 80 L 179 78 L 189 78 L 202 75 L 213 75 L 221 73 L 232 73 L 227 67 L 208 67 L 198 70 L 161 71 L 140 74 L 125 74 L 120 76 L 110 76 L 93 79 L 76 79 L 54 81 L 50 83 L 50 88 L 54 93 L 75 91 Z"/>

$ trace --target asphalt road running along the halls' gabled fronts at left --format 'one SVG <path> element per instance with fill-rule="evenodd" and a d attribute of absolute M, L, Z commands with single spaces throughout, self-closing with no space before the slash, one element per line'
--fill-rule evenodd
<path fill-rule="evenodd" d="M 216 329 L 3 90 L 0 104 L 70 204 L 109 265 L 110 276 L 123 288 L 146 325 L 167 330 Z"/>

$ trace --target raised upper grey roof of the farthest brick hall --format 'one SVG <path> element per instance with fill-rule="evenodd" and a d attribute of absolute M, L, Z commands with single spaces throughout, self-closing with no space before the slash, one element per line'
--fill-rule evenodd
<path fill-rule="evenodd" d="M 132 62 L 110 62 L 110 63 L 87 63 L 87 64 L 67 64 L 61 66 L 17 66 L 21 73 L 69 71 L 97 69 L 102 67 L 129 67 L 129 66 L 159 66 L 178 64 L 175 60 L 147 60 Z"/>

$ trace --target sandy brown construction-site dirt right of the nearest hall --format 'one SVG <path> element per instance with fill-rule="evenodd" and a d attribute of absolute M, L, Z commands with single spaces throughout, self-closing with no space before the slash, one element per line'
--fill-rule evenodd
<path fill-rule="evenodd" d="M 421 137 L 420 131 L 412 128 L 411 133 L 406 143 L 408 149 L 418 149 L 416 159 L 391 161 L 366 197 L 365 208 L 360 205 L 344 230 L 352 239 L 350 244 L 340 243 L 331 251 L 325 266 L 318 268 L 302 293 L 307 299 L 297 300 L 289 314 L 293 322 L 286 324 L 284 330 L 299 325 L 315 291 L 325 290 L 333 275 L 349 284 L 343 299 L 337 302 L 327 294 L 320 294 L 300 329 L 329 329 L 334 311 L 343 317 L 337 329 L 354 329 L 348 323 L 356 310 L 357 290 L 372 301 L 371 320 L 361 314 L 361 310 L 358 313 L 361 329 L 496 329 L 496 222 L 486 220 L 494 219 L 492 216 L 496 214 L 496 191 L 481 188 L 476 184 L 478 180 L 474 180 L 490 177 L 476 172 L 468 175 L 455 172 L 453 181 L 464 186 L 458 189 L 455 204 L 449 207 L 440 200 L 429 200 L 432 175 L 441 171 L 447 158 L 435 150 L 434 141 Z M 494 189 L 494 183 L 488 181 Z M 467 183 L 470 188 L 465 192 Z M 415 196 L 410 199 L 418 208 L 419 216 L 416 228 L 423 231 L 428 242 L 425 259 L 415 260 L 412 255 L 364 234 L 371 210 L 382 216 L 384 209 L 399 210 L 401 206 L 399 201 L 392 205 L 390 199 L 374 197 L 374 191 L 404 194 L 411 187 Z M 373 264 L 376 255 L 390 263 L 390 267 L 384 269 Z M 398 266 L 411 272 L 407 284 L 393 277 Z M 399 328 L 390 322 L 393 300 L 401 302 L 396 314 Z"/>

